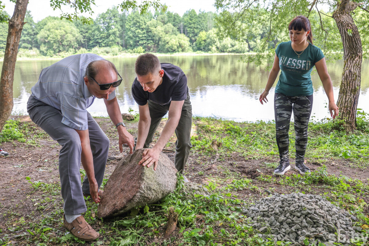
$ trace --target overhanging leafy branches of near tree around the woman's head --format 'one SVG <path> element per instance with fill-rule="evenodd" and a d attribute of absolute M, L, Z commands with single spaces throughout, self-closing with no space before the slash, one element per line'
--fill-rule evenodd
<path fill-rule="evenodd" d="M 331 58 L 342 58 L 343 46 L 337 24 L 332 13 L 338 1 L 317 0 L 215 0 L 220 14 L 215 18 L 220 34 L 235 40 L 246 40 L 255 56 L 248 59 L 258 63 L 274 58 L 274 51 L 280 42 L 289 41 L 288 24 L 297 15 L 305 15 L 311 22 L 313 44 Z M 355 1 L 354 1 L 355 2 Z M 352 12 L 359 29 L 364 55 L 368 55 L 368 1 Z M 328 13 L 317 4 L 329 7 Z M 366 10 L 364 10 L 366 9 Z M 348 30 L 349 32 L 350 30 Z M 255 38 L 255 36 L 259 38 Z M 255 42 L 256 41 L 256 42 Z"/>

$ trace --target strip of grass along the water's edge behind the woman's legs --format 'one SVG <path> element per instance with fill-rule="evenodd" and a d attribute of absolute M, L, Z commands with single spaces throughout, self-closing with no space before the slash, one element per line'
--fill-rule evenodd
<path fill-rule="evenodd" d="M 275 143 L 275 124 L 273 122 L 234 122 L 214 118 L 194 118 L 197 127 L 196 136 L 191 142 L 203 155 L 214 153 L 212 140 L 222 142 L 220 153 L 229 156 L 241 153 L 242 156 L 260 159 L 277 156 Z M 295 134 L 293 122 L 290 124 L 290 156 L 295 157 Z M 345 134 L 335 129 L 332 122 L 311 122 L 308 128 L 307 159 L 348 159 L 361 166 L 369 163 L 369 131 L 357 131 Z"/>

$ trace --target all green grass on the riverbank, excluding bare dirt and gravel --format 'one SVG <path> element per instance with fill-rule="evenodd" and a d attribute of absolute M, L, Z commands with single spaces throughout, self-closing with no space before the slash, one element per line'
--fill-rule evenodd
<path fill-rule="evenodd" d="M 138 115 L 137 115 L 138 116 Z M 364 115 L 367 117 L 367 115 Z M 282 177 L 259 171 L 255 179 L 246 178 L 237 171 L 232 171 L 225 161 L 233 157 L 242 160 L 262 159 L 263 166 L 272 169 L 277 164 L 278 150 L 275 143 L 275 124 L 273 122 L 234 122 L 214 118 L 193 118 L 194 136 L 192 162 L 197 166 L 209 164 L 216 151 L 211 143 L 222 143 L 218 153 L 218 173 L 203 170 L 194 172 L 197 177 L 206 176 L 206 188 L 212 192 L 209 197 L 202 195 L 184 195 L 180 192 L 183 185 L 179 180 L 176 190 L 157 204 L 132 209 L 127 216 L 112 220 L 100 220 L 94 216 L 97 204 L 86 199 L 86 221 L 100 232 L 98 241 L 83 242 L 70 233 L 65 234 L 62 225 L 63 203 L 60 196 L 60 183 L 47 183 L 25 179 L 31 192 L 27 194 L 34 209 L 28 215 L 14 211 L 2 211 L 6 218 L 7 229 L 0 230 L 0 245 L 9 245 L 16 241 L 21 245 L 291 245 L 274 239 L 259 238 L 259 233 L 248 224 L 245 208 L 259 197 L 274 192 L 302 192 L 320 194 L 327 200 L 345 209 L 358 218 L 355 226 L 369 224 L 368 181 L 328 174 L 327 166 L 333 161 L 348 160 L 345 168 L 359 167 L 366 169 L 369 163 L 369 131 L 366 118 L 358 120 L 360 128 L 354 134 L 345 134 L 337 130 L 332 121 L 311 122 L 308 129 L 306 158 L 317 162 L 321 167 L 310 176 L 290 173 Z M 10 121 L 9 131 L 2 132 L 1 141 L 34 141 L 44 138 L 42 131 L 37 132 L 34 124 Z M 129 123 L 128 123 L 129 124 Z M 112 126 L 114 128 L 114 126 Z M 112 129 L 113 129 L 112 128 Z M 17 129 L 17 130 L 15 130 Z M 35 132 L 32 135 L 31 132 Z M 116 135 L 116 134 L 115 134 Z M 114 135 L 114 137 L 116 137 Z M 290 155 L 294 157 L 293 124 L 290 125 Z M 14 136 L 14 137 L 13 137 Z M 111 135 L 113 137 L 113 135 Z M 158 136 L 155 136 L 158 138 Z M 155 141 L 155 139 L 154 139 Z M 173 147 L 173 142 L 169 146 Z M 236 158 L 236 159 L 237 159 Z M 265 159 L 265 160 L 264 160 Z M 260 161 L 259 161 L 260 162 Z M 237 166 L 234 161 L 233 166 Z M 262 166 L 260 167 L 262 170 Z M 85 172 L 81 170 L 81 180 Z M 188 176 L 187 176 L 188 177 Z M 179 178 L 180 179 L 180 178 Z M 107 177 L 103 181 L 106 184 Z M 103 188 L 103 187 L 102 187 Z M 37 194 L 37 195 L 36 195 Z M 16 205 L 18 206 L 18 205 Z M 179 214 L 177 231 L 169 239 L 163 239 L 168 222 L 166 213 L 174 208 Z M 1 211 L 0 207 L 0 211 Z M 34 215 L 41 215 L 35 221 Z M 369 230 L 363 229 L 362 237 L 355 245 L 366 245 Z M 306 245 L 313 245 L 306 241 Z"/>

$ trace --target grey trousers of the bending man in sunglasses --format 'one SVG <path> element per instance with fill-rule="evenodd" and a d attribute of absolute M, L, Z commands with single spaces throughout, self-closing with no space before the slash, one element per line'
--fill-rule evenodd
<path fill-rule="evenodd" d="M 62 146 L 59 153 L 59 175 L 64 213 L 75 215 L 86 212 L 83 193 L 90 194 L 90 185 L 86 175 L 81 187 L 79 169 L 82 148 L 79 135 L 75 129 L 62 123 L 61 111 L 32 96 L 28 99 L 27 112 L 35 124 Z M 100 187 L 103 183 L 110 141 L 88 112 L 87 119 L 95 179 Z"/>

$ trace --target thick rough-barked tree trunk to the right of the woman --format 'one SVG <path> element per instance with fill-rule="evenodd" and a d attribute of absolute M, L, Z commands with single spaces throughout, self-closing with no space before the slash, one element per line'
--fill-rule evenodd
<path fill-rule="evenodd" d="M 333 12 L 344 47 L 344 69 L 337 101 L 339 107 L 337 119 L 343 120 L 346 132 L 353 132 L 356 129 L 356 109 L 361 84 L 363 50 L 358 28 L 351 17 L 351 11 L 358 5 L 349 0 L 342 0 Z"/>

